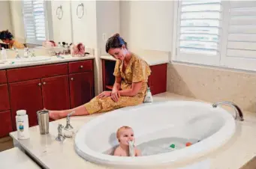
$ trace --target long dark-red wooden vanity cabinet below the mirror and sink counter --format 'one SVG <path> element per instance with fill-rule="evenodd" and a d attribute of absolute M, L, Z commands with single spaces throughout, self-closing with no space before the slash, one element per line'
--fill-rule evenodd
<path fill-rule="evenodd" d="M 38 110 L 65 110 L 89 102 L 95 96 L 93 61 L 0 70 L 0 137 L 16 130 L 20 109 L 27 111 L 29 126 L 36 126 Z M 8 127 L 2 128 L 4 124 Z"/>

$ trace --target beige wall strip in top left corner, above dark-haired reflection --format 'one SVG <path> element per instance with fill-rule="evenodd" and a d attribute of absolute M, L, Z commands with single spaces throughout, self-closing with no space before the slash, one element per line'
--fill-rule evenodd
<path fill-rule="evenodd" d="M 0 31 L 13 31 L 10 15 L 10 1 L 0 1 Z"/>

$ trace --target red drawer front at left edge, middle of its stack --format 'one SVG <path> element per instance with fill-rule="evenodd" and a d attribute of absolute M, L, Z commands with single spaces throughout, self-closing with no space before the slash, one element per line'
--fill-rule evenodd
<path fill-rule="evenodd" d="M 8 84 L 0 84 L 0 111 L 10 109 Z"/>

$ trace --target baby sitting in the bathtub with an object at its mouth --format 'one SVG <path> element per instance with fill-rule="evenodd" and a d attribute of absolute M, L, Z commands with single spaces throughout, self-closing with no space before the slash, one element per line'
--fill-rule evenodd
<path fill-rule="evenodd" d="M 114 156 L 129 156 L 129 141 L 134 141 L 134 131 L 129 126 L 122 126 L 116 132 L 119 147 L 116 148 Z M 135 156 L 141 156 L 140 150 L 134 147 Z"/>

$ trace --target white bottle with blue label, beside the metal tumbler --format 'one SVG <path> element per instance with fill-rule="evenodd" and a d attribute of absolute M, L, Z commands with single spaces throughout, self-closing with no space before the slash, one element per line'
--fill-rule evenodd
<path fill-rule="evenodd" d="M 17 111 L 16 126 L 18 132 L 18 139 L 29 138 L 29 117 L 26 114 L 26 110 Z"/>

